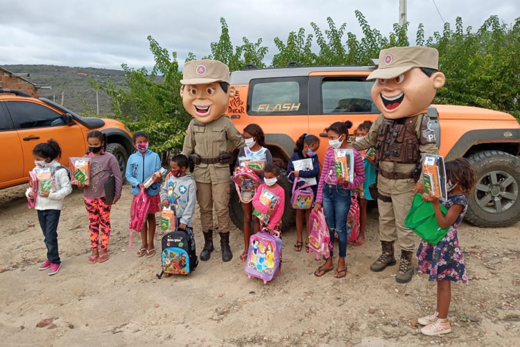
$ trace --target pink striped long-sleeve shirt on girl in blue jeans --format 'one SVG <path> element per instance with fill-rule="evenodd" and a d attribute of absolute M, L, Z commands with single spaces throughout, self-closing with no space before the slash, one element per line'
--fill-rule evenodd
<path fill-rule="evenodd" d="M 354 152 L 354 180 L 352 182 L 343 185 L 343 189 L 356 189 L 363 184 L 365 180 L 365 169 L 363 168 L 363 158 L 361 154 L 352 149 Z M 334 150 L 332 147 L 327 149 L 325 153 L 325 159 L 323 160 L 322 174 L 320 176 L 320 183 L 318 183 L 318 195 L 316 196 L 317 203 L 323 203 L 323 185 L 338 185 L 338 179 L 336 178 L 336 169 L 334 167 Z"/>

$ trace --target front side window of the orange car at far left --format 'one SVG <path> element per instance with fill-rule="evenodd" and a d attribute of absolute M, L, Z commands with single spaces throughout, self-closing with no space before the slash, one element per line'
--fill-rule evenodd
<path fill-rule="evenodd" d="M 7 101 L 6 105 L 18 129 L 65 125 L 65 119 L 60 113 L 39 103 Z"/>

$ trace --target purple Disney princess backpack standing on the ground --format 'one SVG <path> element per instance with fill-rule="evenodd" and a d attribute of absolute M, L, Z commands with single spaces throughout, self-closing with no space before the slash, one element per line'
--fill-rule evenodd
<path fill-rule="evenodd" d="M 281 238 L 277 230 L 263 228 L 249 238 L 248 260 L 245 273 L 260 278 L 265 285 L 279 274 L 281 262 Z"/>

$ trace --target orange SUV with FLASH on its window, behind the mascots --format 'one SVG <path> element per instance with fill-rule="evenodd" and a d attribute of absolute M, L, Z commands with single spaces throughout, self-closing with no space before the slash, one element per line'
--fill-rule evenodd
<path fill-rule="evenodd" d="M 227 114 L 236 128 L 261 126 L 273 157 L 288 161 L 295 140 L 303 133 L 326 137 L 324 128 L 334 121 L 352 121 L 351 130 L 379 110 L 372 102 L 373 81 L 366 77 L 374 66 L 288 67 L 258 69 L 254 65 L 231 74 L 236 96 Z M 465 157 L 477 171 L 478 184 L 469 196 L 466 219 L 477 226 L 508 226 L 520 219 L 520 126 L 511 115 L 483 108 L 432 105 L 428 108 L 440 154 L 447 160 Z M 323 136 L 324 135 L 324 136 Z M 321 140 L 323 160 L 329 146 Z M 286 178 L 281 185 L 289 194 Z M 243 212 L 232 189 L 230 212 L 241 227 Z M 287 200 L 286 200 L 287 201 Z M 289 204 L 286 204 L 289 205 Z M 292 223 L 290 207 L 284 224 Z"/>

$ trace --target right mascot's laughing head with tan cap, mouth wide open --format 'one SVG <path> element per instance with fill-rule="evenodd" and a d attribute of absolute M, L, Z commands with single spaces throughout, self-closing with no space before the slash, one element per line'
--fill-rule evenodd
<path fill-rule="evenodd" d="M 379 66 L 367 80 L 376 80 L 372 99 L 385 118 L 410 117 L 428 108 L 446 78 L 439 52 L 431 47 L 392 47 L 379 53 Z"/>

